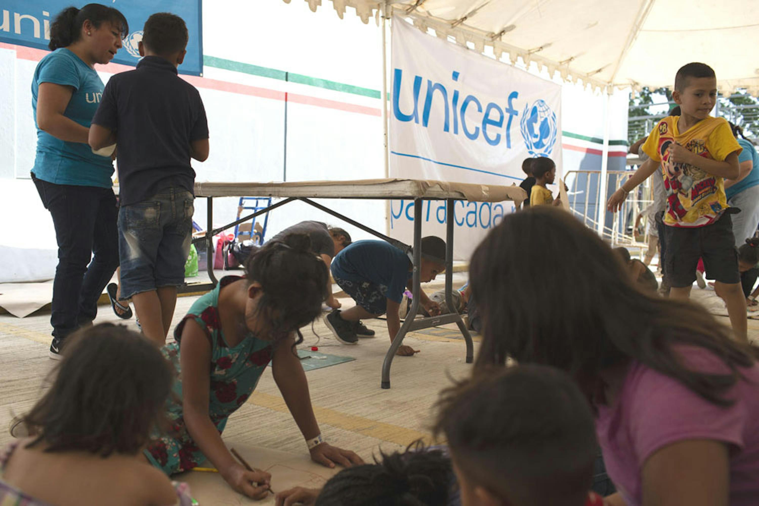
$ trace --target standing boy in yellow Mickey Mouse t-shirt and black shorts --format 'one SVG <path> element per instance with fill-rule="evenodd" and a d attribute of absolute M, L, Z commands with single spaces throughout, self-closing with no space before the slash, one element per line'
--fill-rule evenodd
<path fill-rule="evenodd" d="M 709 115 L 716 93 L 716 76 L 707 64 L 689 63 L 677 71 L 672 98 L 682 115 L 664 118 L 654 127 L 642 146 L 650 160 L 613 193 L 607 205 L 616 212 L 628 193 L 661 164 L 668 225 L 664 272 L 671 296 L 690 296 L 698 259 L 703 258 L 707 275 L 716 280 L 716 292 L 725 300 L 735 336 L 745 341 L 746 303 L 730 218 L 739 211 L 727 205 L 724 183 L 725 178 L 738 178 L 742 148 L 727 121 Z"/>

